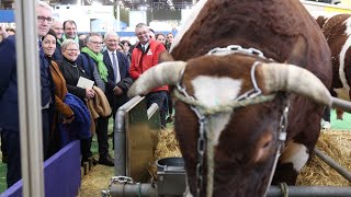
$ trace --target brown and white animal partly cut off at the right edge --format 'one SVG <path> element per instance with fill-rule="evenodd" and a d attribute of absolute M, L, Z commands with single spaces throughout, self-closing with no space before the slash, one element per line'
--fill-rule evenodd
<path fill-rule="evenodd" d="M 331 94 L 351 101 L 351 14 L 318 16 L 317 23 L 331 50 Z M 342 119 L 342 111 L 337 109 L 337 118 Z"/>

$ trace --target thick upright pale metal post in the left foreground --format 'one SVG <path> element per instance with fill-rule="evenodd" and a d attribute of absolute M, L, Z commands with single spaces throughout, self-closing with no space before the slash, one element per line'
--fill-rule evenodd
<path fill-rule="evenodd" d="M 36 1 L 14 1 L 23 196 L 45 196 Z M 34 36 L 36 35 L 36 36 Z M 16 111 L 16 108 L 13 108 Z M 1 112 L 4 113 L 4 112 Z M 11 113 L 11 112 L 9 112 Z M 1 195 L 0 195 L 1 196 Z"/>

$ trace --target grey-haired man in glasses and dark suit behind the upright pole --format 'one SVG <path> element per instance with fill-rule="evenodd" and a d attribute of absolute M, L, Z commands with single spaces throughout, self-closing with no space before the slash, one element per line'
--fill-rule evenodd
<path fill-rule="evenodd" d="M 41 67 L 42 90 L 42 116 L 43 116 L 43 148 L 44 158 L 47 157 L 49 135 L 49 111 L 54 95 L 54 83 L 49 72 L 48 62 L 44 58 L 41 48 L 41 37 L 46 35 L 53 22 L 53 8 L 43 1 L 38 1 L 35 8 L 37 15 L 38 50 Z M 3 27 L 0 26 L 0 35 L 8 37 Z M 5 134 L 8 142 L 8 187 L 21 179 L 21 151 L 19 128 L 19 103 L 16 82 L 16 55 L 14 36 L 9 36 L 0 44 L 0 130 Z"/>

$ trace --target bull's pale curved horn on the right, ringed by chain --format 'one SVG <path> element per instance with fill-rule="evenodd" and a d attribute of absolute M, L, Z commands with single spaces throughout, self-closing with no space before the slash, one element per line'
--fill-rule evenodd
<path fill-rule="evenodd" d="M 268 92 L 293 92 L 318 104 L 331 106 L 332 100 L 328 89 L 308 70 L 283 63 L 263 63 L 259 68 L 262 70 Z"/>

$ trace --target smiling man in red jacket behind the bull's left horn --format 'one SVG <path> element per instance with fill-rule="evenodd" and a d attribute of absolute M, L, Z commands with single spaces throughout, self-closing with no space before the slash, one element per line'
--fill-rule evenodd
<path fill-rule="evenodd" d="M 129 74 L 134 80 L 138 79 L 147 69 L 158 65 L 158 56 L 166 50 L 161 43 L 150 39 L 149 28 L 146 24 L 137 24 L 135 35 L 138 37 L 139 43 L 133 49 L 129 69 Z M 147 107 L 152 103 L 159 106 L 162 128 L 166 128 L 167 92 L 168 85 L 163 85 L 151 90 L 146 95 Z"/>

